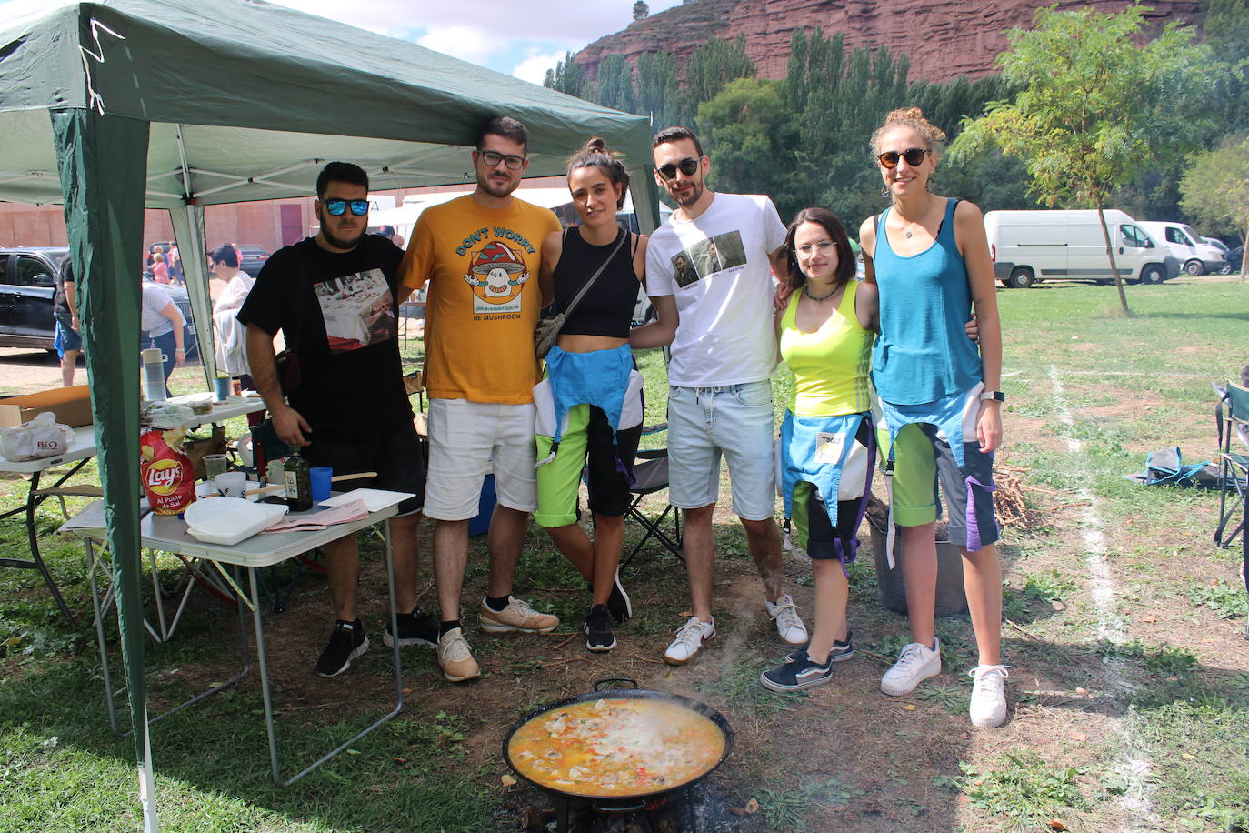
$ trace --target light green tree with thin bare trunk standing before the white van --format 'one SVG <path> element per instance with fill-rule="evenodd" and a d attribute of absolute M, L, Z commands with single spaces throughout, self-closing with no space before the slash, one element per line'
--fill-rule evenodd
<path fill-rule="evenodd" d="M 1175 154 L 1193 150 L 1207 116 L 1215 67 L 1192 29 L 1169 24 L 1140 41 L 1145 9 L 1119 12 L 1042 9 L 1034 29 L 1013 29 L 998 55 L 1018 85 L 1013 101 L 990 105 L 953 142 L 955 160 L 995 145 L 1028 161 L 1033 191 L 1048 205 L 1075 200 L 1102 219 L 1107 257 L 1123 315 L 1130 315 L 1114 262 L 1104 206 L 1114 189 Z"/>

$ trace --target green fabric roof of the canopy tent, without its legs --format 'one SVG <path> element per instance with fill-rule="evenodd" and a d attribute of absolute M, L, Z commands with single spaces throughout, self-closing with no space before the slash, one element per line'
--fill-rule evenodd
<path fill-rule="evenodd" d="M 262 0 L 41 6 L 0 31 L 4 200 L 62 200 L 59 107 L 151 122 L 147 207 L 305 196 L 336 159 L 373 190 L 472 182 L 463 149 L 496 114 L 528 127 L 527 176 L 562 174 L 593 135 L 649 165 L 642 116 Z"/>

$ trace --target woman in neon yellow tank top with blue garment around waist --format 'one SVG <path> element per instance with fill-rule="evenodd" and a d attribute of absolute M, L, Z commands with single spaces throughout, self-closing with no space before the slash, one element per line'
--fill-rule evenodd
<path fill-rule="evenodd" d="M 868 381 L 877 291 L 854 280 L 854 254 L 832 211 L 804 209 L 786 237 L 792 292 L 777 313 L 781 357 L 794 392 L 781 426 L 786 515 L 816 576 L 816 626 L 807 649 L 759 682 L 796 691 L 828 682 L 854 653 L 846 623 L 856 531 L 872 481 L 874 432 Z"/>

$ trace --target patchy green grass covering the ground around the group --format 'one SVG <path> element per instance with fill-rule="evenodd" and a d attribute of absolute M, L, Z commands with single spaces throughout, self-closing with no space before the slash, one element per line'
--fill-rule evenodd
<path fill-rule="evenodd" d="M 1080 510 L 1047 508 L 1043 528 L 1028 533 L 1008 530 L 1002 548 L 1005 612 L 1030 634 L 1020 636 L 1008 626 L 1003 646 L 1005 661 L 1017 669 L 1009 683 L 1012 702 L 1018 701 L 1024 712 L 1030 709 L 1028 728 L 1022 732 L 1034 741 L 1010 742 L 1023 747 L 1004 748 L 990 734 L 970 733 L 975 743 L 964 737 L 969 734 L 965 711 L 970 688 L 964 677 L 953 674 L 974 662 L 975 642 L 967 617 L 938 621 L 948 678 L 917 691 L 916 697 L 928 704 L 908 712 L 911 722 L 898 732 L 881 731 L 881 726 L 892 726 L 897 704 L 876 692 L 879 668 L 869 658 L 856 658 L 847 663 L 844 674 L 839 673 L 838 684 L 843 686 L 861 672 L 857 663 L 868 664 L 863 691 L 843 686 L 836 696 L 831 688 L 793 696 L 759 687 L 758 673 L 779 658 L 762 619 L 751 624 L 754 631 L 741 653 L 713 666 L 713 673 L 697 663 L 677 671 L 641 666 L 656 674 L 657 687 L 669 679 L 673 686 L 688 686 L 686 691 L 716 704 L 734 726 L 764 728 L 741 732 L 734 757 L 708 779 L 741 794 L 738 806 L 744 798 L 759 798 L 759 813 L 741 822 L 744 831 L 819 829 L 826 822 L 853 829 L 856 824 L 884 824 L 882 819 L 888 819 L 891 829 L 904 831 L 958 829 L 964 824 L 969 829 L 1040 829 L 1052 819 L 1072 829 L 1118 829 L 1123 784 L 1114 772 L 1127 752 L 1118 748 L 1112 732 L 1109 741 L 1089 741 L 1084 758 L 1069 759 L 1069 723 L 1057 722 L 1053 732 L 1045 723 L 1054 713 L 1079 721 L 1122 719 L 1135 738 L 1132 754 L 1152 762 L 1148 794 L 1167 829 L 1230 833 L 1249 827 L 1244 728 L 1249 726 L 1249 663 L 1239 648 L 1245 607 L 1235 573 L 1238 553 L 1214 550 L 1210 543 L 1215 495 L 1142 487 L 1123 478 L 1140 471 L 1145 452 L 1154 448 L 1179 445 L 1187 461 L 1213 455 L 1209 382 L 1234 375 L 1245 360 L 1229 345 L 1234 346 L 1235 335 L 1249 322 L 1249 290 L 1235 282 L 1184 281 L 1129 287 L 1134 311 L 1129 318 L 1118 317 L 1118 302 L 1108 287 L 1042 285 L 1002 291 L 998 298 L 1005 332 L 1003 388 L 1009 396 L 1005 458 L 1024 467 L 1027 486 L 1048 490 L 1037 498 L 1043 506 L 1072 500 L 1077 488 L 1094 495 L 1108 561 L 1118 581 L 1120 613 L 1129 628 L 1127 639 L 1122 644 L 1098 639 L 1079 538 Z M 407 368 L 417 366 L 421 351 L 418 341 L 406 345 Z M 667 396 L 662 355 L 639 353 L 638 365 L 647 382 L 646 422 L 662 422 Z M 1069 427 L 1055 406 L 1050 368 L 1064 388 L 1073 420 Z M 176 393 L 201 387 L 202 378 L 194 368 L 175 373 Z M 791 388 L 792 377 L 782 370 L 773 381 L 778 413 Z M 231 426 L 232 433 L 240 430 Z M 1078 457 L 1067 452 L 1068 438 L 1080 441 Z M 658 433 L 646 437 L 643 446 L 664 442 L 666 436 Z M 82 478 L 94 473 L 91 463 Z M 4 506 L 24 490 L 20 478 L 0 477 Z M 727 500 L 727 490 L 722 490 L 722 498 Z M 71 501 L 71 508 L 81 505 Z M 81 548 L 54 535 L 60 523 L 56 505 L 46 503 L 37 522 L 44 555 L 70 606 L 89 609 Z M 636 536 L 627 533 L 626 547 Z M 723 577 L 757 581 L 739 525 L 729 521 L 718 526 L 717 542 Z M 12 518 L 0 522 L 0 557 L 21 557 L 25 548 L 21 523 Z M 376 564 L 377 552 L 377 542 L 368 540 L 366 564 Z M 884 612 L 877 603 L 869 552 L 864 547 L 849 569 L 851 623 L 861 646 L 893 657 L 909 636 L 904 617 Z M 480 543 L 472 545 L 472 553 L 466 584 L 480 587 L 486 574 Z M 170 586 L 176 564 L 167 559 L 160 563 L 162 584 Z M 426 569 L 422 563 L 422 578 Z M 666 553 L 646 552 L 628 571 L 627 582 L 636 604 L 634 618 L 621 628 L 626 641 L 622 653 L 657 659 L 657 652 L 647 653 L 648 648 L 639 646 L 643 641 L 663 643 L 679 626 L 677 613 L 687 604 L 684 568 Z M 517 584 L 537 607 L 565 619 L 561 631 L 573 631 L 585 614 L 588 596 L 583 579 L 536 528 L 526 537 Z M 150 594 L 150 588 L 145 592 Z M 1149 631 L 1133 629 L 1147 613 L 1158 624 Z M 206 604 L 200 594 L 186 616 L 174 642 L 149 641 L 146 646 L 152 679 L 159 683 L 154 696 L 160 702 L 190 693 L 187 683 L 177 682 L 181 672 L 224 667 L 231 658 L 234 642 L 220 634 L 229 632 L 226 619 L 232 614 Z M 726 632 L 737 624 L 736 616 L 731 609 L 717 611 Z M 1180 633 L 1184 636 L 1177 636 Z M 1187 641 L 1207 633 L 1224 639 L 1222 644 L 1232 649 L 1215 653 Z M 759 638 L 763 636 L 767 641 Z M 575 646 L 565 648 L 562 656 L 575 656 Z M 418 681 L 420 688 L 408 697 L 400 718 L 358 743 L 353 754 L 341 756 L 291 788 L 274 787 L 269 776 L 254 682 L 161 721 L 154 728 L 154 761 L 162 829 L 515 829 L 515 817 L 505 812 L 508 792 L 497 788 L 503 767 L 492 751 L 485 757 L 475 754 L 472 741 L 490 737 L 487 746 L 496 744 L 495 736 L 520 711 L 573 693 L 567 687 L 578 683 L 566 682 L 560 676 L 562 667 L 557 674 L 533 654 L 510 652 L 503 641 L 478 639 L 473 648 L 487 673 L 496 679 L 515 678 L 526 694 L 500 706 L 497 714 L 470 717 L 480 712 L 461 713 L 448 706 L 460 701 L 443 689 L 423 688 L 440 686 L 431 682 L 435 671 L 428 653 L 417 652 L 411 659 L 405 656 L 407 681 Z M 383 678 L 385 659 L 378 649 L 366 654 L 356 679 Z M 598 659 L 608 666 L 612 662 Z M 1035 677 L 1042 687 L 1100 692 L 1107 659 L 1122 668 L 1129 691 L 1062 701 L 1059 706 L 1043 693 L 1023 691 Z M 64 623 L 34 572 L 0 569 L 0 833 L 137 828 L 134 747 L 107 732 L 94 634 L 86 622 L 76 629 Z M 607 676 L 597 669 L 587 673 Z M 426 691 L 435 691 L 437 704 L 431 704 Z M 463 692 L 472 694 L 471 688 Z M 299 703 L 296 694 L 285 689 L 277 697 L 282 707 Z M 862 724 L 838 721 L 842 698 L 866 709 L 871 719 Z M 1082 709 L 1084 713 L 1078 713 Z M 313 711 L 284 713 L 284 756 L 291 761 L 309 759 L 367 721 L 357 709 Z M 781 729 L 842 733 L 846 748 L 854 749 L 848 761 L 886 748 L 882 743 L 898 746 L 888 764 L 862 782 L 856 777 L 829 781 L 837 772 L 827 768 L 829 762 L 818 762 L 826 768 L 813 772 L 804 744 L 776 741 Z M 757 744 L 752 739 L 756 734 Z M 932 747 L 927 756 L 912 754 L 912 744 L 921 738 Z M 1028 743 L 1037 743 L 1044 754 Z M 759 761 L 767 762 L 766 777 L 756 768 Z M 955 761 L 965 762 L 958 777 Z M 833 806 L 844 807 L 829 816 Z M 882 816 L 856 816 L 859 812 Z"/>

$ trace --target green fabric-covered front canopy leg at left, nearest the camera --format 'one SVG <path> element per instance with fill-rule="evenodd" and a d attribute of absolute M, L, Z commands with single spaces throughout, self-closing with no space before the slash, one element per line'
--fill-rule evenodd
<path fill-rule="evenodd" d="M 157 829 L 144 679 L 139 558 L 139 308 L 142 287 L 145 121 L 50 110 L 65 226 L 79 281 L 91 415 L 104 486 L 121 651 L 135 732 L 144 828 Z"/>

